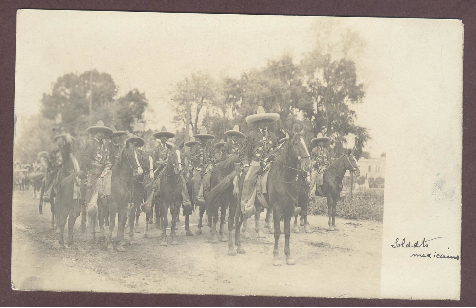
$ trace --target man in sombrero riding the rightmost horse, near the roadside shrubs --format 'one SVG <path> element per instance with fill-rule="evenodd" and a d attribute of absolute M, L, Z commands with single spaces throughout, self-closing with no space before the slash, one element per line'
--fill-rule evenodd
<path fill-rule="evenodd" d="M 324 143 L 330 140 L 329 137 L 323 136 L 322 133 L 318 133 L 317 137 L 311 140 L 311 143 L 316 147 L 311 151 L 311 163 L 314 166 L 312 169 L 312 176 L 311 176 L 311 193 L 309 195 L 310 199 L 314 199 L 316 197 L 316 182 L 319 185 L 322 185 L 322 178 L 319 177 L 324 170 L 329 167 L 330 165 L 330 156 L 329 152 L 326 148 L 324 148 Z M 317 181 L 317 178 L 319 180 Z"/>

